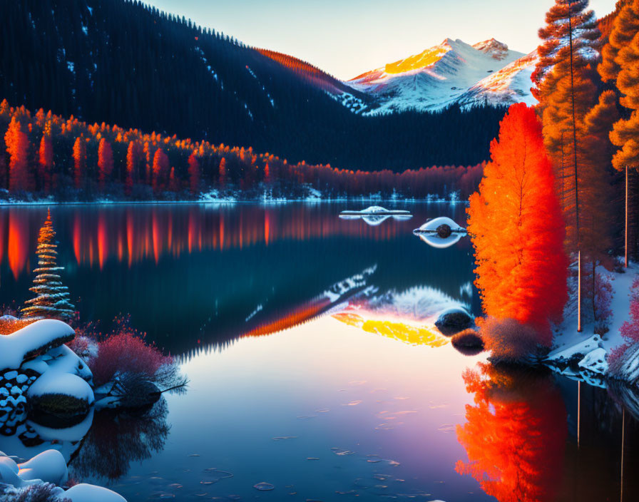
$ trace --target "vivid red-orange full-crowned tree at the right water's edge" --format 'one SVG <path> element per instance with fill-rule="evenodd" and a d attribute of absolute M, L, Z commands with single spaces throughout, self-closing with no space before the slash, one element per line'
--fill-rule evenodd
<path fill-rule="evenodd" d="M 554 181 L 534 109 L 511 106 L 467 210 L 475 284 L 486 315 L 528 324 L 547 346 L 549 321 L 561 319 L 568 299 L 565 230 Z"/>

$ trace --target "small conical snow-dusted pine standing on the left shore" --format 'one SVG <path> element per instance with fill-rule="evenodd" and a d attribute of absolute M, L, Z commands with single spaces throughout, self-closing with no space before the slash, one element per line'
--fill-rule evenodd
<path fill-rule="evenodd" d="M 51 211 L 48 211 L 38 237 L 38 268 L 34 270 L 36 278 L 34 286 L 30 288 L 36 297 L 25 302 L 22 309 L 24 317 L 68 321 L 75 313 L 68 287 L 62 285 L 58 274 L 64 267 L 58 267 L 58 245 L 55 238 L 56 230 L 53 230 Z"/>

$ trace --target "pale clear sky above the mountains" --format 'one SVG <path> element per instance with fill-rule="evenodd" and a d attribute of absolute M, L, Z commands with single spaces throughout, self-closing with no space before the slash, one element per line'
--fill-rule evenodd
<path fill-rule="evenodd" d="M 149 1 L 149 0 L 148 0 Z M 553 0 L 150 0 L 159 9 L 223 31 L 250 46 L 309 61 L 347 79 L 450 37 L 537 46 Z M 615 0 L 591 0 L 598 16 Z"/>

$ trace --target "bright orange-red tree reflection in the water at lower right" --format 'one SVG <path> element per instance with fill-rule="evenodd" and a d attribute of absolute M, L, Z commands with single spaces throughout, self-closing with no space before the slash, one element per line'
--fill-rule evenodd
<path fill-rule="evenodd" d="M 499 502 L 550 502 L 556 496 L 566 441 L 566 409 L 548 377 L 506 372 L 490 364 L 464 372 L 474 406 L 457 439 L 469 461 L 456 471 L 470 474 Z"/>

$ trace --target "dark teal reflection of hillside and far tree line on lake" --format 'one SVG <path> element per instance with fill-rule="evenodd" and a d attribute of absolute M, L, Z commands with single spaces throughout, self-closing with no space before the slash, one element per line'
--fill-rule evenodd
<path fill-rule="evenodd" d="M 410 207 L 420 218 L 464 214 L 459 205 Z M 362 286 L 378 296 L 436 285 L 454 297 L 472 282 L 469 246 L 424 254 L 410 221 L 371 227 L 339 220 L 342 208 L 78 205 L 53 207 L 52 215 L 63 280 L 81 318 L 106 332 L 116 315 L 131 313 L 140 331 L 178 356 L 307 322 L 336 306 L 334 285 L 376 265 Z M 0 208 L 0 304 L 29 297 L 45 215 L 46 207 Z"/>

